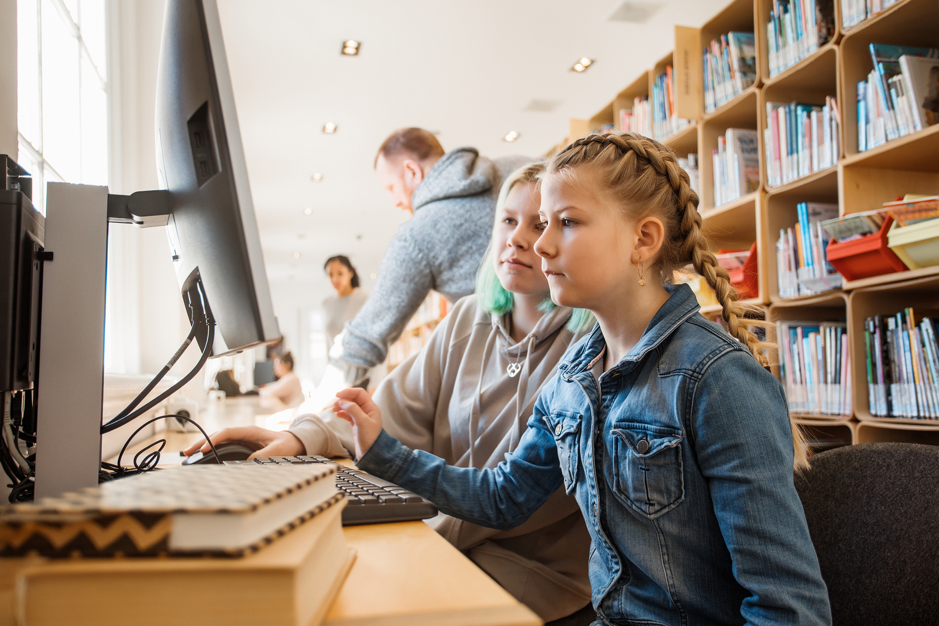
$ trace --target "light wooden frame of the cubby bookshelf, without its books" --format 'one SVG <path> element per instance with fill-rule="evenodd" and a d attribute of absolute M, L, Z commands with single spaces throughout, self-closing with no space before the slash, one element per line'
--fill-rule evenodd
<path fill-rule="evenodd" d="M 700 167 L 702 230 L 712 248 L 746 249 L 757 242 L 759 295 L 747 300 L 762 308 L 767 336 L 775 337 L 777 321 L 844 321 L 851 355 L 852 415 L 793 415 L 809 439 L 824 442 L 865 443 L 911 441 L 939 445 L 939 420 L 899 420 L 870 414 L 868 404 L 864 319 L 874 314 L 897 313 L 912 306 L 917 317 L 939 313 L 939 266 L 845 281 L 842 288 L 799 298 L 780 298 L 777 284 L 776 244 L 779 230 L 796 223 L 800 202 L 838 203 L 839 214 L 881 208 L 905 193 L 939 194 L 939 124 L 900 137 L 866 152 L 857 151 L 856 84 L 872 69 L 870 43 L 939 47 L 939 2 L 900 0 L 853 28 L 841 29 L 840 2 L 836 0 L 835 34 L 805 58 L 770 77 L 766 23 L 773 0 L 732 0 L 700 29 L 676 27 L 675 49 L 641 72 L 606 107 L 590 120 L 571 120 L 568 140 L 603 123 L 619 128 L 619 109 L 629 108 L 637 96 L 648 95 L 656 73 L 673 59 L 676 82 L 685 85 L 685 99 L 676 101 L 678 115 L 697 120 L 664 142 L 679 157 L 697 150 Z M 680 34 L 679 29 L 684 29 Z M 716 110 L 704 113 L 701 52 L 713 38 L 731 30 L 753 32 L 756 42 L 757 81 Z M 689 38 L 689 32 L 694 33 Z M 681 53 L 679 53 L 681 51 Z M 697 64 L 697 66 L 695 65 Z M 682 66 L 682 67 L 678 67 Z M 689 69 L 690 68 L 690 69 Z M 687 86 L 690 84 L 690 88 Z M 687 93 L 693 94 L 690 100 Z M 839 104 L 839 160 L 836 166 L 771 187 L 767 184 L 762 130 L 766 128 L 766 102 L 824 103 L 834 96 Z M 680 105 L 680 106 L 679 106 Z M 729 128 L 758 130 L 760 190 L 714 206 L 712 150 Z M 920 313 L 922 312 L 922 313 Z M 709 318 L 720 307 L 704 306 Z M 770 351 L 771 360 L 778 355 Z M 773 366 L 779 374 L 778 360 Z"/>

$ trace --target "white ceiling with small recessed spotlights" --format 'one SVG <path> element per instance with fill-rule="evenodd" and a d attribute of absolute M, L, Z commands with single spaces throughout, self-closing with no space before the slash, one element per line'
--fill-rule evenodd
<path fill-rule="evenodd" d="M 726 2 L 663 0 L 642 24 L 608 21 L 616 0 L 219 4 L 269 278 L 302 282 L 318 302 L 328 256 L 348 254 L 367 288 L 407 217 L 372 169 L 389 132 L 420 126 L 447 150 L 540 155 L 568 118 L 593 115 L 668 53 L 673 24 L 699 26 Z M 339 53 L 348 38 L 359 56 Z M 581 56 L 596 63 L 571 72 Z M 559 104 L 525 111 L 532 99 Z M 338 132 L 321 131 L 328 121 Z M 513 144 L 509 130 L 521 133 Z"/>

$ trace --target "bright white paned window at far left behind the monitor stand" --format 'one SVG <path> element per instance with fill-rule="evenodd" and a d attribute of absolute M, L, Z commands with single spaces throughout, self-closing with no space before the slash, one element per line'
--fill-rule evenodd
<path fill-rule="evenodd" d="M 45 183 L 108 184 L 105 0 L 18 0 L 18 160 Z"/>

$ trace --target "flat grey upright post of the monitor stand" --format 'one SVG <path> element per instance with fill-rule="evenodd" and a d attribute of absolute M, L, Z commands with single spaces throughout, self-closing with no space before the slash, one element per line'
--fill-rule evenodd
<path fill-rule="evenodd" d="M 36 497 L 98 484 L 108 188 L 49 183 L 39 329 Z M 40 443 L 41 442 L 41 443 Z"/>

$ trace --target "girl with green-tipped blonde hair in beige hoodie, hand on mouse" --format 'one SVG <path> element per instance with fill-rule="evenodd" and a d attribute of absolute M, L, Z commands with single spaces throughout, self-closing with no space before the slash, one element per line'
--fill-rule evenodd
<path fill-rule="evenodd" d="M 423 350 L 375 392 L 389 432 L 454 466 L 495 467 L 515 450 L 564 351 L 593 326 L 584 311 L 553 305 L 532 250 L 541 234 L 535 176 L 543 167 L 522 167 L 502 186 L 477 295 L 458 301 Z M 245 441 L 260 449 L 256 456 L 351 456 L 354 450 L 348 423 L 330 412 L 302 415 L 284 432 L 248 426 L 211 438 Z M 203 446 L 199 442 L 186 454 Z M 512 532 L 444 514 L 428 523 L 543 619 L 590 603 L 590 540 L 577 502 L 563 489 Z M 587 616 L 582 623 L 591 621 Z"/>

